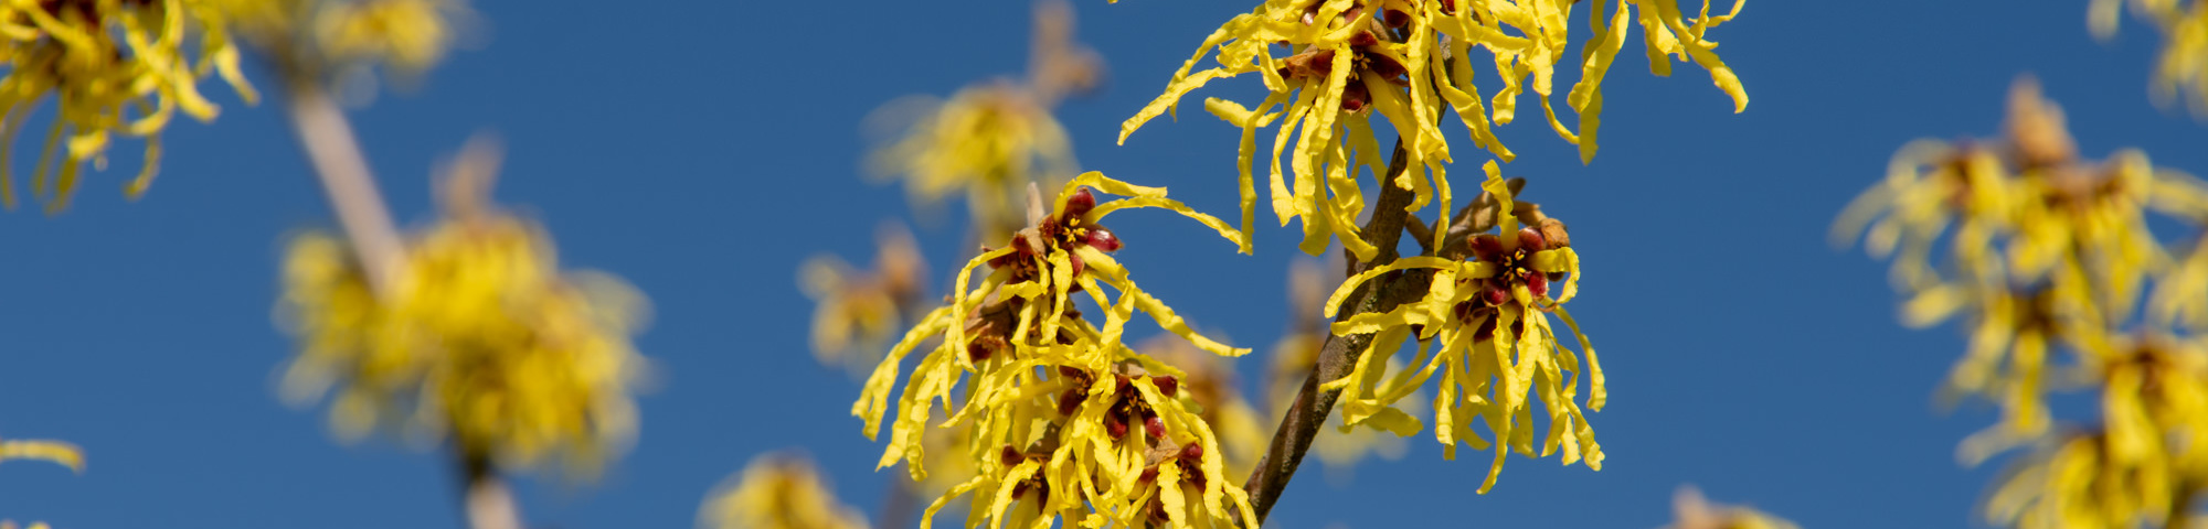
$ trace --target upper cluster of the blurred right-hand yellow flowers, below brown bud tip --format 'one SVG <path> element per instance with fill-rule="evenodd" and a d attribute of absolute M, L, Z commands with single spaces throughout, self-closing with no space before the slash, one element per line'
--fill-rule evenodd
<path fill-rule="evenodd" d="M 2148 280 L 2184 289 L 2148 214 L 2199 218 L 2208 187 L 2155 168 L 2144 152 L 2078 159 L 2062 110 L 2029 79 L 2009 95 L 1998 141 L 1914 141 L 1883 183 L 1835 225 L 1835 240 L 1864 231 L 1872 256 L 1892 256 L 1903 322 L 1930 326 L 1967 315 L 1970 353 L 1947 392 L 1998 401 L 2005 419 L 1976 436 L 1967 458 L 2045 434 L 2049 346 L 2091 350 L 2137 306 Z M 1945 240 L 1947 256 L 1934 262 Z M 2208 280 L 2208 278 L 2204 278 Z M 2157 322 L 2197 302 L 2157 295 Z"/>

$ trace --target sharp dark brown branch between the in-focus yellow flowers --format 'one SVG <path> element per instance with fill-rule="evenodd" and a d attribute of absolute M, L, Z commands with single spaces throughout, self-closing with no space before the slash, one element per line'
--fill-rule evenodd
<path fill-rule="evenodd" d="M 1411 190 L 1393 185 L 1393 176 L 1404 172 L 1406 154 L 1402 141 L 1395 141 L 1395 156 L 1389 161 L 1387 176 L 1380 179 L 1380 201 L 1373 203 L 1373 216 L 1365 223 L 1365 242 L 1380 249 L 1371 262 L 1349 262 L 1349 276 L 1367 271 L 1371 267 L 1389 264 L 1395 260 L 1395 242 L 1404 231 L 1404 218 L 1409 214 L 1402 209 L 1411 205 Z M 1404 276 L 1382 276 L 1358 287 L 1349 295 L 1349 306 L 1356 311 L 1342 311 L 1336 322 L 1345 322 L 1358 313 L 1384 311 L 1387 306 L 1402 304 L 1411 295 L 1424 291 L 1424 273 Z M 1415 287 L 1415 289 L 1406 289 Z M 1334 401 L 1342 395 L 1340 390 L 1318 390 L 1320 384 L 1347 377 L 1365 355 L 1365 346 L 1371 344 L 1371 335 L 1327 335 L 1327 344 L 1318 350 L 1318 364 L 1312 366 L 1312 375 L 1303 379 L 1303 390 L 1296 392 L 1296 401 L 1289 403 L 1287 414 L 1281 417 L 1281 428 L 1272 432 L 1272 447 L 1265 450 L 1265 458 L 1259 461 L 1256 469 L 1250 472 L 1250 483 L 1243 489 L 1250 492 L 1252 507 L 1256 507 L 1256 520 L 1265 522 L 1272 507 L 1281 500 L 1281 492 L 1287 489 L 1287 481 L 1296 476 L 1296 465 L 1303 463 L 1303 454 L 1312 450 L 1312 439 L 1318 436 L 1318 428 L 1327 423 L 1327 414 L 1334 414 Z"/>

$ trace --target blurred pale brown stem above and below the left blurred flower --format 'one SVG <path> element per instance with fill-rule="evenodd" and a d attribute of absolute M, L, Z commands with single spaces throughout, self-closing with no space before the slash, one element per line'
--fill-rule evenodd
<path fill-rule="evenodd" d="M 406 262 L 406 247 L 400 242 L 397 225 L 384 209 L 384 196 L 375 190 L 375 174 L 360 154 L 351 121 L 329 93 L 311 75 L 291 75 L 289 115 L 298 132 L 300 148 L 314 163 L 329 207 L 338 212 L 338 225 L 353 245 L 353 256 L 369 278 L 369 289 L 378 298 L 391 298 L 393 278 Z M 490 469 L 488 463 L 461 463 L 468 527 L 473 529 L 521 529 L 521 509 L 512 489 Z"/>

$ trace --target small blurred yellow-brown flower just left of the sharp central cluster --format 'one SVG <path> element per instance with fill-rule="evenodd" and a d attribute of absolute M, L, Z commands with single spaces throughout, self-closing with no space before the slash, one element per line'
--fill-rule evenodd
<path fill-rule="evenodd" d="M 883 225 L 872 271 L 852 271 L 839 258 L 815 256 L 797 271 L 813 311 L 813 357 L 859 373 L 879 361 L 879 350 L 907 315 L 919 313 L 927 262 L 903 227 Z"/>

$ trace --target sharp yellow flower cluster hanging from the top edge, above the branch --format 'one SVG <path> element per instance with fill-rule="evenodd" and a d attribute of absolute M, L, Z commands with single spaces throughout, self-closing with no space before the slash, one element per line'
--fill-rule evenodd
<path fill-rule="evenodd" d="M 1557 64 L 1572 46 L 1568 20 L 1577 0 L 1267 0 L 1248 15 L 1236 15 L 1214 31 L 1181 64 L 1166 93 L 1144 106 L 1119 128 L 1124 143 L 1142 123 L 1172 112 L 1181 97 L 1212 79 L 1256 73 L 1270 95 L 1256 106 L 1228 99 L 1206 99 L 1206 110 L 1241 126 L 1241 203 L 1243 231 L 1256 216 L 1252 159 L 1256 130 L 1276 128 L 1272 143 L 1272 209 L 1281 225 L 1303 220 L 1303 249 L 1325 251 L 1338 238 L 1358 260 L 1378 251 L 1356 234 L 1362 209 L 1358 174 L 1393 179 L 1393 185 L 1415 190 L 1406 212 L 1435 198 L 1448 209 L 1451 161 L 1448 143 L 1437 121 L 1444 106 L 1471 130 L 1473 141 L 1508 161 L 1512 154 L 1493 134 L 1493 126 L 1510 123 L 1517 97 L 1528 84 L 1541 99 L 1550 126 L 1579 145 L 1592 161 L 1601 126 L 1601 82 L 1627 40 L 1630 26 L 1643 29 L 1649 66 L 1669 75 L 1669 57 L 1689 60 L 1711 73 L 1711 79 L 1733 99 L 1733 110 L 1749 97 L 1724 62 L 1718 42 L 1707 31 L 1740 13 L 1742 0 L 1722 15 L 1709 13 L 1709 2 L 1696 18 L 1685 18 L 1676 0 L 1592 2 L 1588 15 L 1592 37 L 1581 42 L 1579 82 L 1565 104 L 1579 112 L 1579 126 L 1565 126 L 1550 106 Z M 1636 11 L 1638 7 L 1638 11 Z M 1283 48 L 1276 48 L 1283 46 Z M 1203 55 L 1217 48 L 1217 68 L 1195 71 Z M 1484 101 L 1473 82 L 1473 48 L 1493 57 L 1501 88 Z M 1669 57 L 1667 57 L 1669 55 Z M 1404 156 L 1402 174 L 1384 174 L 1389 154 L 1380 150 L 1369 112 L 1380 112 L 1395 130 Z M 1289 150 L 1294 183 L 1281 172 L 1281 154 Z M 1413 172 L 1429 174 L 1426 179 Z M 1446 229 L 1444 229 L 1446 231 Z M 1248 251 L 1248 247 L 1243 249 Z"/>

